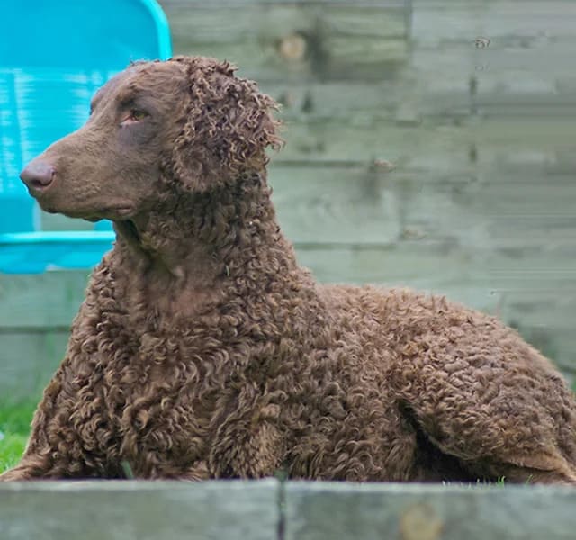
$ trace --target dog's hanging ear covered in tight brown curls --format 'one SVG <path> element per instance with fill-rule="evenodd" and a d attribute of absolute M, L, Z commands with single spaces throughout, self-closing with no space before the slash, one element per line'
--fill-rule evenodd
<path fill-rule="evenodd" d="M 175 140 L 174 174 L 189 191 L 204 192 L 245 171 L 261 171 L 265 149 L 279 148 L 274 100 L 234 67 L 208 58 L 178 58 L 186 66 L 183 128 Z"/>

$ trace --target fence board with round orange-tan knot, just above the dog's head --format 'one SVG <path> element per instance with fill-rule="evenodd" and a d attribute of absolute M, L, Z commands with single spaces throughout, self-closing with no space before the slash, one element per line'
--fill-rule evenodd
<path fill-rule="evenodd" d="M 227 58 L 258 80 L 379 80 L 408 58 L 404 2 L 162 4 L 178 53 Z"/>

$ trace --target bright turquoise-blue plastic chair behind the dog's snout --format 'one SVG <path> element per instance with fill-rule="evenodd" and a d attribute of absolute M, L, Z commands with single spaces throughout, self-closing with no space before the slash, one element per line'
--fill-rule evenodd
<path fill-rule="evenodd" d="M 171 55 L 166 16 L 155 0 L 0 6 L 0 272 L 89 268 L 112 246 L 110 222 L 93 231 L 40 230 L 40 209 L 19 174 L 85 122 L 94 92 L 130 61 Z"/>

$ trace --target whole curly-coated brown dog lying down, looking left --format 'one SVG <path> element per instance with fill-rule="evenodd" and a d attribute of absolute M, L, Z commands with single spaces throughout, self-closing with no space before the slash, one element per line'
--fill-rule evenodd
<path fill-rule="evenodd" d="M 1 479 L 576 482 L 572 393 L 516 332 L 296 264 L 273 107 L 226 63 L 139 63 L 24 171 L 44 209 L 110 218 L 117 241 Z"/>

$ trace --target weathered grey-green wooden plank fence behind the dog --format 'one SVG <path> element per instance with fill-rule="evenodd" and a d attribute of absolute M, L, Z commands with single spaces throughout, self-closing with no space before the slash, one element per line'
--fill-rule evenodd
<path fill-rule="evenodd" d="M 572 378 L 576 3 L 160 3 L 175 53 L 235 61 L 283 104 L 270 183 L 302 265 L 496 314 Z M 85 278 L 0 275 L 0 392 L 46 382 Z"/>

